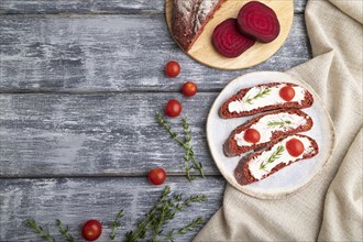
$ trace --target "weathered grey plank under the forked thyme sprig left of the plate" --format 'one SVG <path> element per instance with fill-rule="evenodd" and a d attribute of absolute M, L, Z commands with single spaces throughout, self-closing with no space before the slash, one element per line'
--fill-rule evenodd
<path fill-rule="evenodd" d="M 184 174 L 185 151 L 155 120 L 173 98 L 184 106 L 206 174 L 219 174 L 206 121 L 217 94 L 0 95 L 0 176 L 136 176 L 163 166 Z M 167 119 L 184 136 L 180 118 Z M 183 138 L 182 136 L 182 138 Z"/>

